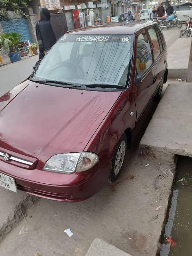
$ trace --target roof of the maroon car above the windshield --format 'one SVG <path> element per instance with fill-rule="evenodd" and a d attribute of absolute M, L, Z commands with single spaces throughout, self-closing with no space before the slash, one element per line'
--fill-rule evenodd
<path fill-rule="evenodd" d="M 134 35 L 135 31 L 144 27 L 155 24 L 152 21 L 135 21 L 135 22 L 111 22 L 102 25 L 90 26 L 86 28 L 76 29 L 67 34 L 73 35 L 105 35 L 105 34 L 123 34 Z"/>

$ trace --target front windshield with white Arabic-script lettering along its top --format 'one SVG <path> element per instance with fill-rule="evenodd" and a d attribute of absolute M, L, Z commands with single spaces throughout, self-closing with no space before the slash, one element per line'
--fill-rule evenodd
<path fill-rule="evenodd" d="M 64 35 L 32 79 L 125 86 L 131 72 L 132 45 L 132 35 Z"/>

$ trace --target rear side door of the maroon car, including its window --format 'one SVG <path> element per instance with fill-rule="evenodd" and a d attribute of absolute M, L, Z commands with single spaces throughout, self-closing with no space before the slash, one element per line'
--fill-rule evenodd
<path fill-rule="evenodd" d="M 149 38 L 152 45 L 153 57 L 156 65 L 156 74 L 155 74 L 155 84 L 151 87 L 152 94 L 155 93 L 157 87 L 162 82 L 165 72 L 165 63 L 166 63 L 166 53 L 164 54 L 163 44 L 161 42 L 160 35 L 157 32 L 156 26 L 150 27 L 147 29 Z"/>

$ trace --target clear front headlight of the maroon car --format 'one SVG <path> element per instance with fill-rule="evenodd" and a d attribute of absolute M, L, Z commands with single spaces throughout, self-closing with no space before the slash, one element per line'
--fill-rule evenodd
<path fill-rule="evenodd" d="M 50 172 L 83 172 L 93 167 L 99 157 L 91 152 L 58 154 L 49 158 L 43 170 Z"/>

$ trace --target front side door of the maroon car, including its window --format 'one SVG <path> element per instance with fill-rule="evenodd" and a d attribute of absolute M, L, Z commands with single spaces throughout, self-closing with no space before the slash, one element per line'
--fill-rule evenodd
<path fill-rule="evenodd" d="M 156 88 L 156 66 L 148 33 L 144 29 L 136 35 L 134 99 L 137 120 L 150 102 Z"/>

